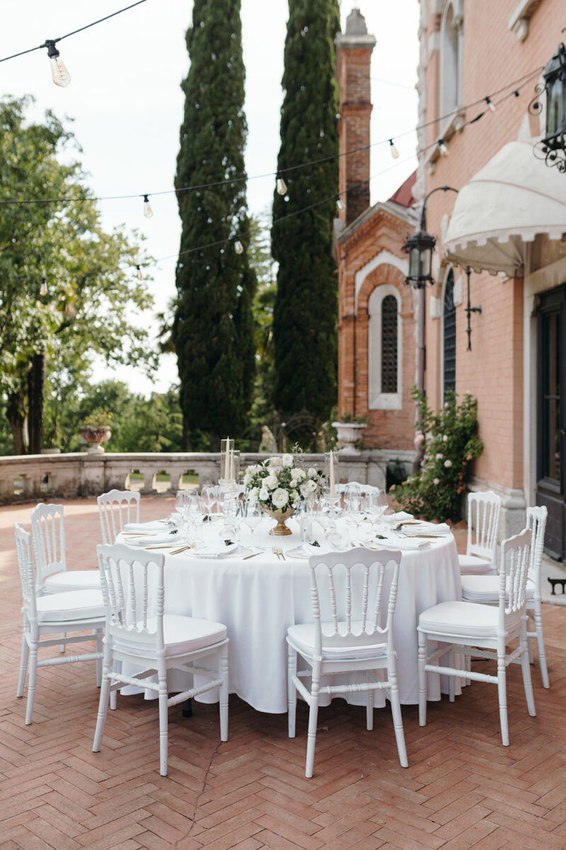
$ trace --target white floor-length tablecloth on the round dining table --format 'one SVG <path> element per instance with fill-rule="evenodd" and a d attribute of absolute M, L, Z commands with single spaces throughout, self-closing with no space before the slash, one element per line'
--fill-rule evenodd
<path fill-rule="evenodd" d="M 246 553 L 230 558 L 195 558 L 156 550 L 165 553 L 165 613 L 224 623 L 230 638 L 230 693 L 238 694 L 257 711 L 271 713 L 287 711 L 287 629 L 312 621 L 308 561 L 289 556 L 283 561 L 272 554 L 273 546 L 285 552 L 300 545 L 298 524 L 294 519 L 287 524 L 292 535 L 273 537 L 268 535 L 273 520 L 262 520 L 253 540 L 268 551 L 247 560 L 242 557 Z M 216 522 L 205 527 L 207 536 L 216 536 Z M 246 545 L 251 539 L 249 529 L 244 528 L 242 533 Z M 460 570 L 452 535 L 431 541 L 428 548 L 403 552 L 394 621 L 401 703 L 418 702 L 418 615 L 431 605 L 460 598 Z M 185 688 L 187 682 L 181 672 L 170 671 L 170 677 L 171 691 Z M 440 700 L 439 677 L 429 674 L 428 683 L 429 700 Z M 210 692 L 199 699 L 214 698 L 214 692 Z M 352 694 L 350 699 L 362 703 L 365 696 Z M 381 692 L 376 693 L 379 705 L 384 705 Z"/>

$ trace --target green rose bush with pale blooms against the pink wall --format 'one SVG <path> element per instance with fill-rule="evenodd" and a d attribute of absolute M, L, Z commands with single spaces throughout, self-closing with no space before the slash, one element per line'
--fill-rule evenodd
<path fill-rule="evenodd" d="M 484 450 L 477 434 L 478 400 L 465 394 L 458 405 L 457 394 L 452 392 L 440 412 L 434 413 L 420 390 L 414 388 L 412 396 L 422 415 L 422 430 L 415 434 L 415 445 L 423 450 L 423 460 L 415 475 L 392 486 L 389 492 L 404 510 L 416 516 L 461 519 L 469 464 Z"/>

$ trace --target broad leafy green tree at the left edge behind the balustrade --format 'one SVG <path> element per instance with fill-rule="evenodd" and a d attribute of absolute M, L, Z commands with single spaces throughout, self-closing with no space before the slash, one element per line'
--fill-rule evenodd
<path fill-rule="evenodd" d="M 26 122 L 30 101 L 0 102 L 0 392 L 17 454 L 42 448 L 50 358 L 84 373 L 93 354 L 137 365 L 155 356 L 132 322 L 153 303 L 132 274 L 147 262 L 138 237 L 102 228 L 80 164 L 59 161 L 72 133 L 51 112 Z"/>

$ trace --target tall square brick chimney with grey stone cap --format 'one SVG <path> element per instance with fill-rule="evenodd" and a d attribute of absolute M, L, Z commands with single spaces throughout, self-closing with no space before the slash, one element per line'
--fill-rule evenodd
<path fill-rule="evenodd" d="M 370 62 L 375 38 L 367 35 L 358 8 L 346 19 L 346 31 L 336 36 L 336 75 L 339 84 L 339 192 L 345 209 L 340 218 L 348 225 L 369 207 Z M 356 153 L 344 156 L 346 150 Z M 360 185 L 361 184 L 361 185 Z M 356 187 L 356 188 L 351 188 Z"/>

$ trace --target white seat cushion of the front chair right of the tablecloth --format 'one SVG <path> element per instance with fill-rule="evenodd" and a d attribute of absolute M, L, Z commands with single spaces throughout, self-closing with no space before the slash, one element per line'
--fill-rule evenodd
<path fill-rule="evenodd" d="M 506 616 L 506 630 L 519 625 L 520 612 Z M 496 638 L 499 608 L 475 602 L 441 602 L 426 609 L 418 618 L 419 632 L 442 632 L 446 635 L 466 635 L 471 638 Z"/>

